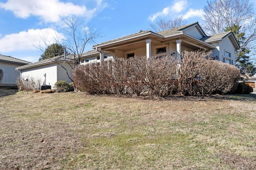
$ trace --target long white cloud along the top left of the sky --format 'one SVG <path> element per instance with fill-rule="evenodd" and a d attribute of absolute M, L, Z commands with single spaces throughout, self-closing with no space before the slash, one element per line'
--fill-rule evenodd
<path fill-rule="evenodd" d="M 102 0 L 96 0 L 96 4 L 100 10 L 107 6 L 106 3 L 102 3 Z M 6 3 L 1 2 L 0 8 L 12 11 L 19 18 L 38 16 L 45 22 L 57 22 L 60 17 L 68 14 L 90 18 L 98 10 L 97 8 L 88 10 L 86 6 L 74 5 L 72 2 L 60 2 L 60 0 L 8 0 Z"/>

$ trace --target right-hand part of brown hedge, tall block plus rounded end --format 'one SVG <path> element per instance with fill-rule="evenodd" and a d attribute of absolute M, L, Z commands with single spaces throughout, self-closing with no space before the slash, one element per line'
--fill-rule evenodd
<path fill-rule="evenodd" d="M 210 52 L 184 51 L 178 71 L 182 95 L 225 94 L 235 90 L 240 71 L 233 65 L 210 59 Z"/>

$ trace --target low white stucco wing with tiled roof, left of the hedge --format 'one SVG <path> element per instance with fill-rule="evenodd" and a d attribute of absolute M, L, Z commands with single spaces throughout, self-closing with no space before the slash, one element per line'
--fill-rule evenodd
<path fill-rule="evenodd" d="M 59 64 L 54 61 L 55 59 L 58 60 Z M 68 83 L 72 82 L 68 78 L 68 75 L 72 78 L 73 69 L 70 65 L 73 66 L 73 61 L 68 59 L 68 56 L 67 59 L 58 56 L 57 58 L 19 66 L 16 70 L 20 72 L 20 77 L 22 78 L 29 76 L 29 78 L 33 78 L 37 82 L 39 81 L 41 85 L 50 85 L 54 88 L 54 84 L 59 80 L 64 80 Z M 67 69 L 68 75 L 62 66 Z"/>

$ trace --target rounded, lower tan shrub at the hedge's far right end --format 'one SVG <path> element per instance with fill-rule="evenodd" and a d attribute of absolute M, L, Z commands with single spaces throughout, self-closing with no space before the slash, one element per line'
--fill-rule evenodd
<path fill-rule="evenodd" d="M 210 60 L 201 70 L 201 94 L 225 94 L 236 90 L 240 70 L 230 64 Z"/>

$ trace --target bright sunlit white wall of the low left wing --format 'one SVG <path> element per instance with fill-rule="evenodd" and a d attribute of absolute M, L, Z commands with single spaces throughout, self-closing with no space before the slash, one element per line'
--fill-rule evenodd
<path fill-rule="evenodd" d="M 50 85 L 53 87 L 57 82 L 57 65 L 55 63 L 46 64 L 34 68 L 29 68 L 25 70 L 21 70 L 21 77 L 25 78 L 29 76 L 29 78 L 34 78 L 35 80 L 40 80 L 41 85 L 45 80 L 44 74 L 46 73 L 46 85 Z"/>

